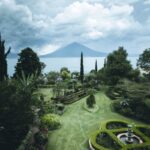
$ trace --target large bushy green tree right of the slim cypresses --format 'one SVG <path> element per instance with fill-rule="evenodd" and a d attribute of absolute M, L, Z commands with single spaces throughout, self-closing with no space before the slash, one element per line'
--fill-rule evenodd
<path fill-rule="evenodd" d="M 104 74 L 106 82 L 109 84 L 116 84 L 120 78 L 126 78 L 132 70 L 130 61 L 127 60 L 127 52 L 123 47 L 110 53 L 105 62 Z"/>

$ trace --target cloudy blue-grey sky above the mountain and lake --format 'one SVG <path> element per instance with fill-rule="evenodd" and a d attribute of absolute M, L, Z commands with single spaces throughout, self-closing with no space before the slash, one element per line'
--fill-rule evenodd
<path fill-rule="evenodd" d="M 12 52 L 43 55 L 72 42 L 101 52 L 150 48 L 150 0 L 0 0 L 0 32 Z"/>

